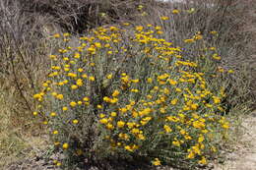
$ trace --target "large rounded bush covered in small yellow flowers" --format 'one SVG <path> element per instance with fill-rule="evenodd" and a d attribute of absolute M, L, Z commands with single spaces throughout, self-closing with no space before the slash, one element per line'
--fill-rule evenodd
<path fill-rule="evenodd" d="M 95 28 L 77 46 L 68 45 L 68 33 L 54 35 L 63 46 L 50 55 L 33 115 L 42 117 L 67 158 L 144 157 L 154 165 L 194 166 L 218 152 L 229 128 L 221 57 L 200 32 L 184 39 L 185 48 L 162 33 L 124 23 Z"/>

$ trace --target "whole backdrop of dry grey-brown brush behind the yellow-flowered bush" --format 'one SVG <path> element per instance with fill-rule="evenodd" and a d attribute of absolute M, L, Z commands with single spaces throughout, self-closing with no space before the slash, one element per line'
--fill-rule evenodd
<path fill-rule="evenodd" d="M 209 8 L 209 3 L 216 5 Z M 34 103 L 30 98 L 44 79 L 48 54 L 56 48 L 49 34 L 68 31 L 75 37 L 90 28 L 120 22 L 160 25 L 160 16 L 170 10 L 194 8 L 195 13 L 182 20 L 182 14 L 177 15 L 172 25 L 164 28 L 168 32 L 165 36 L 172 37 L 175 32 L 179 34 L 174 37 L 178 42 L 195 30 L 203 34 L 217 30 L 216 45 L 221 47 L 223 65 L 232 66 L 238 76 L 232 80 L 231 97 L 235 96 L 235 100 L 227 102 L 237 105 L 255 98 L 255 4 L 255 0 L 190 0 L 186 4 L 154 0 L 2 0 L 0 122 L 4 126 L 1 126 L 0 136 L 1 164 L 34 152 L 32 147 L 39 148 L 38 141 L 41 134 L 45 134 L 39 122 L 34 126 Z M 138 10 L 139 5 L 143 5 L 142 10 Z M 32 146 L 28 141 L 33 138 L 36 140 Z"/>

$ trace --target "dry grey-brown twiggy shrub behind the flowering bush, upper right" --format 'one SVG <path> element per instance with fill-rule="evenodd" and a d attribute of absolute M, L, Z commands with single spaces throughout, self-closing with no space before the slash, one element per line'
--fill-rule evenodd
<path fill-rule="evenodd" d="M 254 9 L 251 1 L 240 0 L 189 0 L 185 3 L 163 3 L 152 9 L 141 23 L 154 23 L 163 29 L 164 39 L 171 39 L 182 46 L 183 39 L 200 31 L 209 46 L 215 46 L 223 57 L 222 67 L 232 68 L 235 76 L 229 81 L 229 107 L 240 107 L 241 103 L 253 103 L 255 99 L 255 48 Z M 177 10 L 178 9 L 178 10 Z M 178 11 L 173 15 L 172 10 Z M 169 17 L 168 22 L 159 20 Z M 210 31 L 218 32 L 213 39 L 207 37 Z M 211 44 L 211 45 L 210 45 Z M 182 46 L 183 47 L 183 46 Z M 194 52 L 193 52 L 194 53 Z M 194 54 L 196 55 L 196 54 Z M 241 87 L 243 86 L 243 87 Z M 246 86 L 246 87 L 245 87 Z M 253 94 L 254 93 L 254 94 Z M 242 106 L 243 107 L 243 106 Z M 249 106 L 251 107 L 251 106 Z"/>

